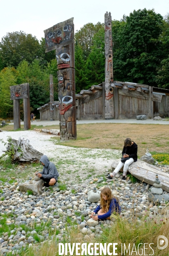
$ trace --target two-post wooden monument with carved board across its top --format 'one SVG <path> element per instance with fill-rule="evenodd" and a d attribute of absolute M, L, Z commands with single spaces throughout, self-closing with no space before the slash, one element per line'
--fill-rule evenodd
<path fill-rule="evenodd" d="M 20 99 L 23 99 L 24 130 L 31 128 L 29 84 L 10 86 L 11 100 L 14 101 L 14 130 L 20 128 Z"/>

